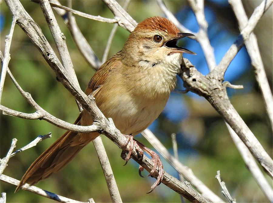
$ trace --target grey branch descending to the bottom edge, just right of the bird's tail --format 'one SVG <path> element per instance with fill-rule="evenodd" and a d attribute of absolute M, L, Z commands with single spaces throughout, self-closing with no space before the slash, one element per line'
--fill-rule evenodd
<path fill-rule="evenodd" d="M 109 159 L 107 157 L 106 151 L 103 146 L 103 142 L 101 137 L 98 136 L 96 139 L 93 140 L 93 144 L 96 148 L 97 155 L 99 157 L 100 165 L 103 169 L 103 173 L 106 179 L 107 187 L 111 196 L 112 202 L 122 202 L 120 197 L 119 189 L 116 185 L 116 180 L 113 175 L 113 171 L 111 169 L 111 165 Z"/>

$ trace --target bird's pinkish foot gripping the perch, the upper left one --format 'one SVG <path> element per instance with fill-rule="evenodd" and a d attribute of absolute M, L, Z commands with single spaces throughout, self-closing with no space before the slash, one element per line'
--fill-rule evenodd
<path fill-rule="evenodd" d="M 132 135 L 124 135 L 124 136 L 126 137 L 126 141 L 123 144 L 123 146 L 120 147 L 122 149 L 120 157 L 126 161 L 126 163 L 124 165 L 126 165 L 127 162 L 129 161 L 129 159 L 131 158 L 134 147 L 136 148 L 136 153 L 137 153 L 139 159 L 141 160 L 143 158 L 143 151 L 142 151 L 142 149 L 140 149 L 140 146 L 138 145 L 136 140 L 134 140 Z M 129 152 L 128 152 L 128 155 L 126 156 L 126 148 L 127 148 L 127 145 L 129 144 L 129 142 L 130 142 Z"/>

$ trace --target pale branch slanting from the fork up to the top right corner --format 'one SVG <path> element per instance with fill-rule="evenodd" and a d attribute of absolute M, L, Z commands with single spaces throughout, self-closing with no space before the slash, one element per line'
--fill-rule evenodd
<path fill-rule="evenodd" d="M 261 19 L 265 11 L 267 11 L 267 9 L 272 5 L 272 3 L 273 0 L 263 0 L 263 2 L 261 2 L 261 4 L 257 8 L 255 8 L 253 14 L 249 18 L 247 25 L 244 27 L 240 35 L 237 37 L 236 41 L 231 45 L 231 47 L 229 47 L 228 51 L 226 52 L 220 63 L 214 69 L 214 71 L 217 71 L 219 73 L 220 78 L 224 77 L 224 73 L 226 72 L 228 65 L 231 63 L 238 51 L 241 49 L 244 41 L 247 41 L 249 39 L 249 36 L 254 30 L 258 21 Z"/>

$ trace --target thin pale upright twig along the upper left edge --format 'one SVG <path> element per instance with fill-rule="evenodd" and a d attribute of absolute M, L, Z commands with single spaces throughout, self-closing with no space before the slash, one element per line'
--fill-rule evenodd
<path fill-rule="evenodd" d="M 9 50 L 11 46 L 11 41 L 12 41 L 12 36 L 13 36 L 13 31 L 14 31 L 16 21 L 17 21 L 17 8 L 15 8 L 15 12 L 12 18 L 12 25 L 10 28 L 10 32 L 5 39 L 5 52 L 4 52 L 5 56 L 4 56 L 4 60 L 2 64 L 2 71 L 1 71 L 1 77 L 0 77 L 0 103 L 1 103 L 2 93 L 3 93 L 4 83 L 5 83 L 5 77 L 6 77 L 6 73 L 8 69 L 8 63 L 10 60 Z"/>

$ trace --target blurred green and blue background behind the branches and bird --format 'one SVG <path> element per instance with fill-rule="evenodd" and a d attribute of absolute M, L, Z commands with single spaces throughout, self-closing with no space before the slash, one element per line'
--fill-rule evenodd
<path fill-rule="evenodd" d="M 4 53 L 5 36 L 9 33 L 12 16 L 5 2 L 1 2 L 0 43 L 1 51 Z M 21 2 L 26 11 L 41 27 L 53 49 L 56 50 L 40 6 L 30 1 L 24 0 Z M 124 3 L 124 1 L 118 2 L 121 5 Z M 188 6 L 187 1 L 166 0 L 164 2 L 185 27 L 194 32 L 198 31 L 194 13 Z M 260 2 L 258 0 L 243 1 L 248 17 Z M 61 3 L 66 5 L 65 1 L 61 1 Z M 88 14 L 113 18 L 111 11 L 99 0 L 73 1 L 73 8 Z M 164 17 L 157 2 L 148 0 L 132 0 L 128 7 L 128 13 L 137 22 L 150 16 Z M 66 36 L 67 46 L 79 83 L 82 89 L 85 90 L 95 71 L 86 63 L 77 50 L 62 18 L 56 12 L 55 14 L 59 26 Z M 113 25 L 79 16 L 75 17 L 83 35 L 101 60 Z M 205 1 L 205 17 L 209 25 L 208 35 L 214 47 L 216 61 L 219 63 L 239 34 L 237 21 L 226 0 Z M 272 8 L 262 17 L 254 33 L 258 38 L 268 80 L 272 84 Z M 117 29 L 109 57 L 122 49 L 128 35 L 129 32 L 123 28 Z M 188 58 L 203 74 L 207 74 L 207 64 L 200 45 L 196 41 L 188 39 L 184 41 L 184 47 L 197 53 L 197 56 L 184 54 L 184 57 Z M 46 111 L 62 120 L 73 123 L 79 113 L 74 98 L 61 83 L 56 81 L 52 69 L 18 25 L 15 26 L 10 54 L 9 68 L 21 87 L 31 93 L 34 100 Z M 241 49 L 227 69 L 225 80 L 230 81 L 232 84 L 244 85 L 242 90 L 228 89 L 229 97 L 262 146 L 272 155 L 271 127 L 255 80 L 254 69 L 251 66 L 245 47 Z M 184 89 L 183 82 L 179 78 L 177 83 L 177 89 Z M 5 80 L 1 104 L 26 113 L 34 112 L 8 76 Z M 223 119 L 204 98 L 194 93 L 171 93 L 163 113 L 149 129 L 172 154 L 170 135 L 176 133 L 180 161 L 190 167 L 194 174 L 222 199 L 224 199 L 224 196 L 221 194 L 220 185 L 215 178 L 217 170 L 220 170 L 231 196 L 236 198 L 237 202 L 267 202 L 254 178 L 246 169 Z M 20 179 L 29 165 L 65 130 L 46 121 L 24 120 L 1 114 L 0 158 L 6 155 L 12 138 L 18 139 L 16 149 L 19 149 L 35 139 L 36 136 L 49 132 L 52 132 L 51 139 L 46 139 L 36 147 L 12 157 L 4 174 Z M 105 136 L 102 136 L 102 139 L 124 202 L 181 201 L 177 193 L 163 184 L 151 194 L 146 194 L 154 179 L 150 177 L 141 178 L 138 175 L 138 165 L 133 160 L 123 166 L 124 161 L 120 158 L 121 150 Z M 152 148 L 141 135 L 136 136 L 136 139 Z M 168 173 L 178 177 L 177 172 L 164 159 L 163 165 Z M 148 173 L 144 172 L 144 174 Z M 266 178 L 272 183 L 267 175 Z M 94 198 L 96 202 L 111 201 L 92 143 L 86 146 L 65 169 L 39 182 L 36 186 L 78 201 L 86 201 L 88 198 Z M 22 190 L 14 194 L 14 190 L 15 186 L 0 182 L 0 191 L 7 193 L 7 202 L 55 202 Z"/>

